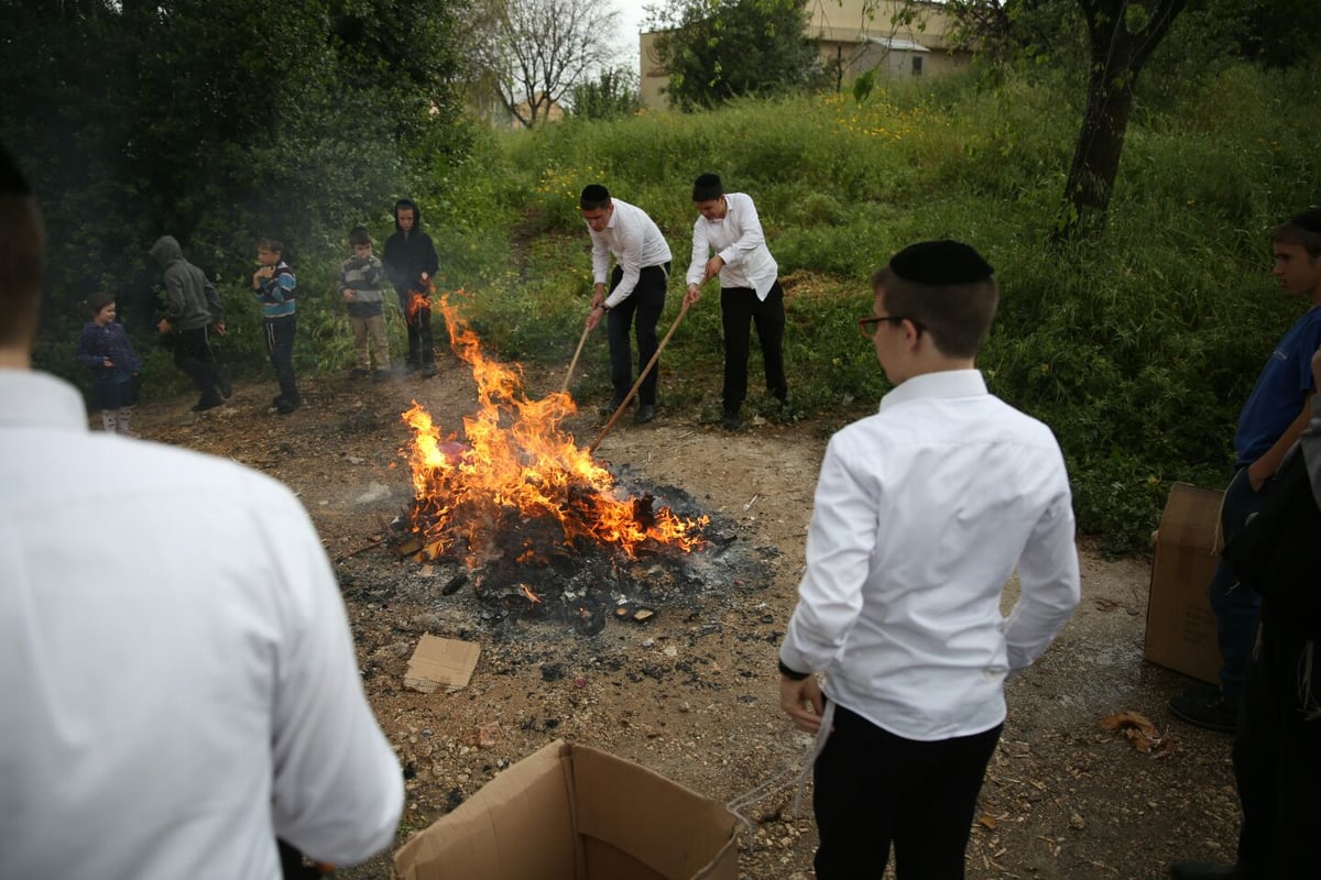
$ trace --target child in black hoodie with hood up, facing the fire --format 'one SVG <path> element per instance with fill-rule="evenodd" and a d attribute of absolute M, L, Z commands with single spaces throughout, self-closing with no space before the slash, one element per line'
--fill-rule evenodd
<path fill-rule="evenodd" d="M 408 326 L 408 372 L 436 375 L 436 348 L 431 338 L 432 277 L 440 268 L 436 245 L 421 231 L 421 211 L 412 199 L 395 202 L 395 234 L 386 240 L 386 276 L 399 294 Z"/>

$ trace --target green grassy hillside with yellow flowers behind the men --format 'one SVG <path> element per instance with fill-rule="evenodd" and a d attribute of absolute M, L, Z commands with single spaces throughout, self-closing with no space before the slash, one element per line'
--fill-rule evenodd
<path fill-rule="evenodd" d="M 1223 482 L 1238 408 L 1303 310 L 1271 278 L 1268 232 L 1321 201 L 1321 78 L 1232 66 L 1157 95 L 1129 127 L 1103 235 L 1059 248 L 1052 232 L 1082 94 L 1067 82 L 968 75 L 863 102 L 830 95 L 571 120 L 480 136 L 461 168 L 437 172 L 413 195 L 441 253 L 443 285 L 461 290 L 453 302 L 486 343 L 507 359 L 567 364 L 590 296 L 581 187 L 606 183 L 666 232 L 679 278 L 664 330 L 688 263 L 692 179 L 720 173 L 757 201 L 786 288 L 793 417 L 823 431 L 873 412 L 886 391 L 855 326 L 871 307 L 871 272 L 919 239 L 968 241 L 1001 285 L 980 358 L 992 391 L 1059 437 L 1081 528 L 1114 551 L 1135 550 L 1172 482 Z M 365 216 L 378 251 L 391 231 L 387 208 Z M 341 256 L 297 255 L 300 369 L 349 363 L 330 296 Z M 251 297 L 238 278 L 226 288 L 238 330 L 226 356 L 268 369 Z M 73 372 L 63 343 L 46 358 Z M 153 381 L 169 391 L 177 377 L 165 355 L 152 363 Z M 715 290 L 684 318 L 663 365 L 662 408 L 719 424 Z M 608 396 L 604 338 L 584 351 L 573 391 L 583 405 Z M 761 406 L 770 409 L 749 400 L 752 412 Z"/>

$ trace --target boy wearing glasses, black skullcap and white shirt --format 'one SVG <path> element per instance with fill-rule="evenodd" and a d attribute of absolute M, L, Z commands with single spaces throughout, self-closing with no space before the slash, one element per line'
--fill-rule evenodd
<path fill-rule="evenodd" d="M 779 702 L 816 734 L 816 876 L 878 877 L 893 844 L 898 880 L 958 880 L 1004 681 L 1078 606 L 1073 499 L 1050 429 L 975 367 L 997 298 L 985 260 L 914 244 L 872 290 L 860 325 L 894 389 L 826 450 Z"/>

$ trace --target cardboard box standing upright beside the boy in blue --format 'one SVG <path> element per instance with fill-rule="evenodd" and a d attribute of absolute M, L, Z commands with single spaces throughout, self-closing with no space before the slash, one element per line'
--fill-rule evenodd
<path fill-rule="evenodd" d="M 1221 649 L 1209 587 L 1219 562 L 1221 496 L 1188 483 L 1170 487 L 1156 533 L 1143 658 L 1218 685 Z"/>

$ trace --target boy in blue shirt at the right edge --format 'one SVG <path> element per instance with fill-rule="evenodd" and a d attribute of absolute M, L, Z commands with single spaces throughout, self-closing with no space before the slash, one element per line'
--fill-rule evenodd
<path fill-rule="evenodd" d="M 1280 289 L 1308 299 L 1310 307 L 1271 352 L 1239 413 L 1234 476 L 1221 508 L 1226 540 L 1260 509 L 1258 492 L 1306 427 L 1316 393 L 1312 355 L 1321 347 L 1321 207 L 1309 207 L 1276 227 L 1271 240 L 1272 273 Z M 1189 724 L 1230 732 L 1236 726 L 1260 603 L 1256 592 L 1240 583 L 1223 561 L 1211 577 L 1210 598 L 1221 648 L 1219 690 L 1184 691 L 1170 698 L 1169 708 Z"/>

